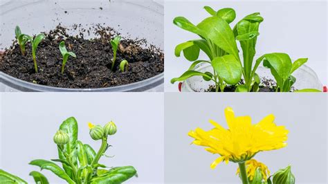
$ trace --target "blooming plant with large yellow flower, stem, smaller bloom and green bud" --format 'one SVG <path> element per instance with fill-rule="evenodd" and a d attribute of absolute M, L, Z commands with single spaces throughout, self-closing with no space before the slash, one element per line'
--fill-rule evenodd
<path fill-rule="evenodd" d="M 189 132 L 189 136 L 194 138 L 194 145 L 206 147 L 206 151 L 212 154 L 219 154 L 210 167 L 215 169 L 222 161 L 238 163 L 237 174 L 242 179 L 243 184 L 248 183 L 271 183 L 268 167 L 253 159 L 256 154 L 262 151 L 271 151 L 286 146 L 287 134 L 289 131 L 284 126 L 277 126 L 274 123 L 275 116 L 266 116 L 257 124 L 253 125 L 249 116 L 235 117 L 233 109 L 225 109 L 228 129 L 221 127 L 217 122 L 210 120 L 214 126 L 209 131 L 197 128 Z M 293 176 L 289 167 L 286 174 L 273 175 L 273 183 L 282 181 L 286 175 Z M 295 178 L 291 177 L 284 183 L 295 183 Z"/>

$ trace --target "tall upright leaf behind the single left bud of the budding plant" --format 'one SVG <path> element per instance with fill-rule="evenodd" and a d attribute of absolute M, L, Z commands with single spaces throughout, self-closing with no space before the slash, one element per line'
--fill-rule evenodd
<path fill-rule="evenodd" d="M 69 134 L 69 143 L 64 145 L 64 153 L 60 149 L 58 149 L 59 158 L 62 160 L 66 160 L 64 154 L 71 155 L 72 160 L 75 166 L 78 166 L 75 148 L 76 148 L 76 141 L 78 140 L 78 122 L 75 120 L 74 117 L 68 118 L 62 122 L 60 125 L 60 129 L 67 134 Z M 72 176 L 72 171 L 69 167 L 63 165 L 64 170 L 66 171 L 69 176 Z"/>

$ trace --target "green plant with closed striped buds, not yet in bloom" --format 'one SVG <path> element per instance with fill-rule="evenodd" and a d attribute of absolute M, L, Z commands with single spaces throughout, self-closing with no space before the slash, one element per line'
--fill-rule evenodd
<path fill-rule="evenodd" d="M 104 156 L 105 151 L 110 147 L 107 143 L 109 136 L 116 134 L 116 125 L 113 122 L 109 122 L 102 127 L 101 125 L 89 123 L 89 128 L 91 138 L 102 141 L 98 152 L 95 152 L 90 145 L 83 144 L 78 140 L 78 122 L 72 117 L 60 125 L 60 129 L 53 137 L 57 145 L 59 158 L 32 160 L 30 165 L 47 169 L 70 184 L 122 183 L 136 176 L 136 169 L 132 166 L 106 169 L 107 166 L 99 163 L 100 158 Z M 62 163 L 62 167 L 57 165 L 56 162 Z M 48 183 L 46 176 L 40 172 L 30 172 L 30 176 L 33 176 L 35 183 Z M 0 169 L 0 183 L 27 182 Z"/>

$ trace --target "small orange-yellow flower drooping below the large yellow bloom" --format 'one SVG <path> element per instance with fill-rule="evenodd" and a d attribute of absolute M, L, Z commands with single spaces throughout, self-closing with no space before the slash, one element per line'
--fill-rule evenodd
<path fill-rule="evenodd" d="M 246 161 L 246 173 L 250 181 L 253 181 L 256 169 L 260 170 L 264 181 L 266 181 L 268 176 L 270 176 L 270 171 L 268 170 L 268 167 L 264 165 L 264 163 L 257 162 L 255 159 L 250 159 Z M 239 172 L 240 170 L 238 167 L 236 174 L 239 174 Z"/>

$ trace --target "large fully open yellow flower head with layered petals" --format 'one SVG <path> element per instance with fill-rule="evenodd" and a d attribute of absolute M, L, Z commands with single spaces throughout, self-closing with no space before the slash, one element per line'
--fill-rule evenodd
<path fill-rule="evenodd" d="M 242 163 L 253 158 L 259 151 L 286 146 L 288 130 L 284 126 L 275 125 L 275 117 L 272 114 L 252 125 L 249 116 L 235 117 L 230 107 L 227 107 L 224 113 L 229 129 L 224 129 L 217 122 L 210 120 L 215 128 L 210 131 L 197 128 L 188 134 L 195 139 L 195 145 L 206 147 L 206 151 L 220 155 L 210 166 L 212 169 L 223 160 L 226 163 L 229 160 Z"/>

